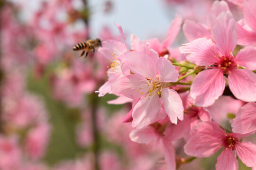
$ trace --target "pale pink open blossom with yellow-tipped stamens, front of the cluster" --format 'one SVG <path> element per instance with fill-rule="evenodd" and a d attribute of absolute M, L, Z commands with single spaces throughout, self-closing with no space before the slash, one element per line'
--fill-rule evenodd
<path fill-rule="evenodd" d="M 154 55 L 136 51 L 125 52 L 119 59 L 135 74 L 117 79 L 111 90 L 131 99 L 140 98 L 132 112 L 133 127 L 143 128 L 153 122 L 161 108 L 160 96 L 171 122 L 183 120 L 182 101 L 176 91 L 168 88 L 169 82 L 178 80 L 178 72 L 169 60 L 156 60 Z"/>

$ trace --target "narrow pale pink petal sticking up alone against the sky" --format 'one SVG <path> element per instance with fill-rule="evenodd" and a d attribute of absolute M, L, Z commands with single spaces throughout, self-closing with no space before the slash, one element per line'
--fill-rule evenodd
<path fill-rule="evenodd" d="M 162 44 L 163 48 L 168 48 L 173 44 L 176 36 L 180 32 L 181 25 L 182 25 L 182 17 L 180 15 L 176 14 L 175 18 L 168 30 L 168 35 Z"/>

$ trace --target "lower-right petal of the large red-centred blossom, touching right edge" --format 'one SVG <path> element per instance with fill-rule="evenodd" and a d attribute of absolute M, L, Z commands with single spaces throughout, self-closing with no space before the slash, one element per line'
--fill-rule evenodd
<path fill-rule="evenodd" d="M 234 96 L 245 102 L 256 101 L 256 74 L 246 69 L 232 69 L 229 88 Z"/>

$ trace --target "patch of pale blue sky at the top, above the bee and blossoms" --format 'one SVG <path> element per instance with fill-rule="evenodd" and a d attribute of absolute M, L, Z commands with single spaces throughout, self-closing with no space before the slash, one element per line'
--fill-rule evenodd
<path fill-rule="evenodd" d="M 165 36 L 174 18 L 168 11 L 166 14 L 163 0 L 112 0 L 113 11 L 106 15 L 94 13 L 91 17 L 91 34 L 97 36 L 103 26 L 109 26 L 116 34 L 113 22 L 121 25 L 129 39 L 130 34 L 136 34 L 141 40 L 153 36 Z M 91 7 L 99 7 L 105 0 L 89 0 Z M 93 9 L 93 8 L 92 8 Z M 95 8 L 97 9 L 97 8 Z M 96 12 L 96 11 L 95 11 Z M 169 16 L 169 17 L 168 17 Z"/>

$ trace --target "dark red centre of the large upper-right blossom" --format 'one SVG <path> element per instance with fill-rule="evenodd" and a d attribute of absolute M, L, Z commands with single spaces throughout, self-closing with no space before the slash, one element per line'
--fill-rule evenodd
<path fill-rule="evenodd" d="M 238 68 L 238 64 L 234 61 L 233 56 L 222 56 L 219 57 L 219 63 L 216 64 L 219 69 L 222 70 L 223 74 L 228 75 L 230 70 L 233 68 Z"/>

